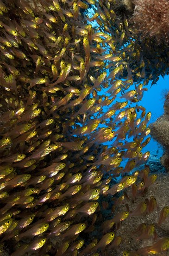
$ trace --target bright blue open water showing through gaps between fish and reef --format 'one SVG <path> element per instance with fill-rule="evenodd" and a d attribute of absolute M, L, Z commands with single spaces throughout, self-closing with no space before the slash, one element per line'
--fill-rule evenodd
<path fill-rule="evenodd" d="M 88 17 L 92 17 L 93 15 L 94 15 L 94 7 L 88 9 Z M 95 20 L 92 22 L 88 22 L 88 23 L 91 23 L 93 27 L 98 28 L 98 32 L 100 32 L 100 29 L 99 29 L 100 26 L 97 24 L 97 22 Z M 107 49 L 107 51 L 104 54 L 109 53 L 109 47 L 106 47 L 106 49 Z M 107 72 L 107 70 L 103 70 L 103 71 Z M 107 72 L 107 77 L 108 77 L 108 75 L 109 75 L 109 73 Z M 143 95 L 143 98 L 141 101 L 138 101 L 136 104 L 133 104 L 133 103 L 130 104 L 130 102 L 129 102 L 131 107 L 135 107 L 136 105 L 139 105 L 139 106 L 143 106 L 146 109 L 146 113 L 151 112 L 151 119 L 147 123 L 147 127 L 150 123 L 156 121 L 156 119 L 158 117 L 163 115 L 163 103 L 165 100 L 164 92 L 169 91 L 169 75 L 166 75 L 164 77 L 164 79 L 162 76 L 160 76 L 159 80 L 156 82 L 155 85 L 151 86 L 151 83 L 152 83 L 152 81 L 150 81 L 149 84 L 146 86 L 146 88 L 148 88 L 148 91 L 144 91 L 144 95 Z M 137 86 L 138 86 L 138 84 L 137 84 Z M 135 89 L 135 84 L 130 86 L 128 91 L 133 90 L 133 89 Z M 106 88 L 106 89 L 102 88 L 101 91 L 97 92 L 97 93 L 98 93 L 98 95 L 104 94 L 105 96 L 110 96 L 110 94 L 106 94 L 107 90 L 108 90 L 108 88 Z M 103 107 L 102 111 L 103 112 L 108 111 L 111 108 L 111 106 L 113 104 L 115 104 L 115 102 L 117 102 L 117 101 L 125 101 L 125 98 L 121 99 L 121 98 L 119 98 L 120 96 L 121 96 L 121 93 L 119 93 L 116 96 L 115 101 L 113 101 L 113 103 L 111 105 Z M 91 94 L 91 97 L 92 97 L 92 94 Z M 117 113 L 115 115 L 117 115 Z M 124 119 L 122 119 L 121 121 L 124 121 Z M 99 125 L 99 127 L 107 127 L 107 126 L 108 126 L 107 124 Z M 113 141 L 115 141 L 115 139 L 113 139 L 112 141 L 106 141 L 103 144 L 112 146 Z M 131 139 L 127 138 L 127 141 L 133 141 L 133 140 L 132 140 L 132 138 Z M 146 151 L 150 151 L 150 155 L 155 155 L 158 158 L 160 158 L 163 155 L 162 146 L 159 143 L 157 143 L 155 140 L 153 140 L 152 138 L 151 138 L 150 142 L 148 143 L 148 145 L 143 148 L 142 153 L 144 153 Z"/>

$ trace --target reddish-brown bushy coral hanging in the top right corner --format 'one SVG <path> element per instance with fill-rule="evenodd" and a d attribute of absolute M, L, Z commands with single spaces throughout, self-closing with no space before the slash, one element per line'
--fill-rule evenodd
<path fill-rule="evenodd" d="M 141 34 L 155 37 L 158 44 L 169 43 L 169 1 L 134 0 L 133 21 Z"/>

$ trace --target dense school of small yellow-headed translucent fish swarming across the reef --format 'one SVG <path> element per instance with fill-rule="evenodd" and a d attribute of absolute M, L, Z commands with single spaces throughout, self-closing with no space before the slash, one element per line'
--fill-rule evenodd
<path fill-rule="evenodd" d="M 168 74 L 169 52 L 140 40 L 118 2 L 0 1 L 1 255 L 169 249 L 158 232 L 169 206 L 146 194 L 157 174 L 144 150 L 151 113 L 139 105 Z M 125 219 L 154 240 L 124 242 Z"/>

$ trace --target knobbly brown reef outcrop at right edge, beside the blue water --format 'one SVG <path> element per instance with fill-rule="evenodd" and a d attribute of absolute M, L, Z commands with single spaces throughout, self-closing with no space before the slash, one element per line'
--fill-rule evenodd
<path fill-rule="evenodd" d="M 150 124 L 150 129 L 151 136 L 163 146 L 161 162 L 169 171 L 169 92 L 165 94 L 164 114 Z"/>

